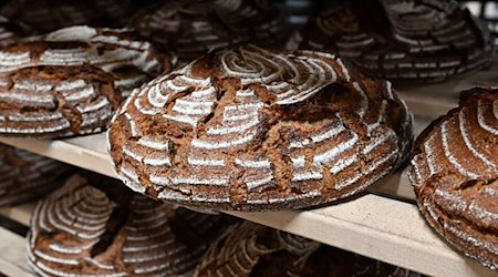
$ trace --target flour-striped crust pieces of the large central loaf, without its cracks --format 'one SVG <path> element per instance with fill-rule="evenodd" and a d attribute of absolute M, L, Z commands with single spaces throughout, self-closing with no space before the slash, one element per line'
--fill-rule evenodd
<path fill-rule="evenodd" d="M 271 111 L 274 105 L 299 104 L 338 81 L 349 82 L 351 93 L 359 95 L 355 112 L 361 124 L 366 126 L 370 138 L 363 142 L 359 134 L 350 130 L 345 121 L 338 117 L 309 137 L 290 141 L 288 148 L 281 151 L 288 153 L 286 155 L 292 161 L 288 166 L 292 166 L 291 182 L 295 186 L 299 187 L 300 182 L 323 179 L 323 171 L 326 170 L 330 174 L 339 176 L 336 181 L 340 182 L 335 183 L 335 189 L 349 191 L 357 185 L 359 189 L 362 189 L 391 171 L 402 158 L 401 152 L 405 152 L 406 145 L 409 144 L 406 143 L 404 148 L 398 147 L 401 138 L 385 124 L 390 109 L 387 100 L 394 100 L 393 102 L 400 102 L 398 104 L 405 109 L 406 116 L 401 119 L 405 121 L 403 132 L 409 132 L 409 113 L 395 96 L 391 83 L 386 82 L 381 91 L 375 92 L 381 93 L 385 100 L 381 104 L 372 104 L 363 85 L 352 80 L 347 68 L 333 55 L 311 51 L 278 54 L 256 47 L 224 50 L 215 54 L 216 61 L 219 62 L 219 71 L 212 72 L 211 76 L 197 76 L 193 69 L 199 66 L 196 63 L 201 60 L 195 61 L 135 91 L 122 110 L 121 116 L 125 119 L 131 135 L 138 141 L 129 140 L 123 144 L 121 154 L 125 158 L 117 166 L 117 172 L 134 191 L 145 193 L 143 185 L 145 182 L 152 184 L 159 192 L 158 197 L 163 199 L 183 203 L 229 203 L 230 198 L 226 192 L 234 182 L 231 172 L 227 171 L 229 166 L 235 166 L 241 172 L 239 178 L 248 193 L 271 189 L 279 182 L 276 178 L 278 168 L 276 161 L 267 153 L 245 153 L 237 154 L 236 157 L 226 153 L 243 152 L 250 145 L 262 143 L 264 132 L 270 132 L 263 126 L 268 120 L 264 116 L 268 115 L 262 111 Z M 224 78 L 238 80 L 241 86 L 219 96 L 219 86 L 222 84 L 215 85 L 214 80 Z M 276 103 L 262 101 L 258 89 L 253 89 L 255 85 L 273 93 Z M 230 102 L 225 101 L 226 98 L 231 98 Z M 222 106 L 219 103 L 224 103 Z M 186 145 L 174 146 L 175 143 L 168 141 L 167 136 L 162 135 L 157 138 L 154 133 L 138 126 L 137 119 L 144 121 L 159 116 L 167 125 L 185 126 L 194 130 L 193 133 L 199 127 L 204 131 L 201 135 L 193 136 Z M 295 124 L 302 123 L 295 121 Z M 274 124 L 270 130 L 290 123 Z M 118 126 L 113 125 L 112 129 Z M 158 150 L 141 143 L 153 137 L 159 140 L 160 142 L 157 141 L 159 144 L 179 148 L 172 152 L 169 148 Z M 111 136 L 110 143 L 111 146 L 114 143 Z M 314 151 L 311 158 L 303 155 L 310 150 Z M 356 153 L 359 150 L 362 153 Z M 175 156 L 174 153 L 179 152 L 185 154 Z M 164 163 L 145 162 L 145 158 L 156 155 L 163 155 Z M 364 171 L 357 171 L 362 174 L 351 176 L 349 168 L 357 166 L 362 156 L 373 162 L 363 168 Z M 176 165 L 173 165 L 173 160 L 176 161 Z M 178 166 L 178 163 L 187 170 L 177 171 L 175 166 Z M 196 189 L 201 186 L 225 193 L 219 193 L 216 197 L 196 194 Z M 175 191 L 167 187 L 175 187 Z M 280 198 L 249 197 L 247 203 L 266 205 L 270 202 L 298 201 L 299 197 L 313 198 L 320 194 L 320 189 L 317 188 Z"/>

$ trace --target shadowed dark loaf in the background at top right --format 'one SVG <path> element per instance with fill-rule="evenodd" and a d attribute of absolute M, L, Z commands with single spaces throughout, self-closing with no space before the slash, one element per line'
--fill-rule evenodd
<path fill-rule="evenodd" d="M 331 51 L 393 81 L 443 81 L 490 63 L 492 40 L 448 0 L 353 0 L 323 11 L 288 49 Z"/>

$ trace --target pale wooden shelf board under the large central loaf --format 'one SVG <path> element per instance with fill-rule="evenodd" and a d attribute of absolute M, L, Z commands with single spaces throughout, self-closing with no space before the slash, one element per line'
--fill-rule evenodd
<path fill-rule="evenodd" d="M 415 132 L 428 120 L 417 117 Z M 0 142 L 116 177 L 103 133 L 58 141 L 0 137 Z M 432 276 L 497 276 L 433 233 L 413 197 L 406 174 L 400 172 L 377 182 L 369 193 L 339 204 L 308 211 L 229 214 Z M 32 209 L 33 204 L 29 204 L 0 209 L 0 214 L 28 224 Z"/>

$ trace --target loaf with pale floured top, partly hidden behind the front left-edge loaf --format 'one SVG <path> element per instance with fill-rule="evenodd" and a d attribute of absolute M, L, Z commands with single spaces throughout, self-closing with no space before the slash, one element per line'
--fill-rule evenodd
<path fill-rule="evenodd" d="M 90 64 L 112 73 L 115 86 L 126 98 L 134 88 L 168 72 L 170 59 L 167 53 L 157 53 L 151 43 L 137 40 L 133 31 L 77 25 L 0 49 L 0 72 Z"/>

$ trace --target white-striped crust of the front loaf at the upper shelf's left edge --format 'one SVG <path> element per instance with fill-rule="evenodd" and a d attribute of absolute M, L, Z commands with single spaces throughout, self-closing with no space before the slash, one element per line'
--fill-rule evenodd
<path fill-rule="evenodd" d="M 55 72 L 62 69 L 52 68 Z M 103 74 L 101 71 L 94 73 Z M 18 76 L 13 81 L 9 73 L 0 84 L 0 102 L 19 109 L 0 111 L 0 132 L 41 136 L 65 136 L 100 132 L 111 121 L 113 106 L 92 78 L 69 75 L 66 80 L 53 81 L 35 76 Z M 98 80 L 101 84 L 105 81 Z M 61 111 L 58 103 L 72 106 L 79 115 Z M 76 122 L 77 121 L 77 122 Z M 77 130 L 73 130 L 77 124 Z"/>

